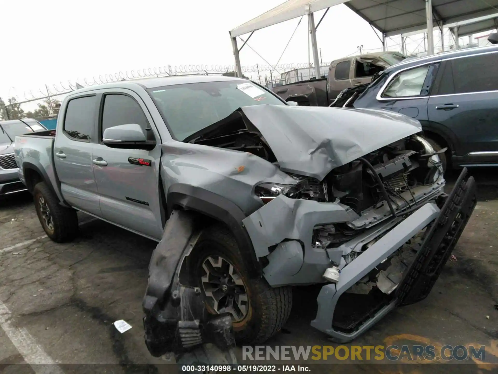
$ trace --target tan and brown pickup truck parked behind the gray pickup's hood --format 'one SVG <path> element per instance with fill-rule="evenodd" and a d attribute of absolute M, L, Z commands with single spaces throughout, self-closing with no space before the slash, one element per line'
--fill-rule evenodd
<path fill-rule="evenodd" d="M 300 106 L 329 106 L 347 88 L 370 83 L 375 73 L 403 61 L 398 52 L 375 52 L 345 57 L 330 63 L 327 78 L 311 79 L 273 88 L 285 101 Z"/>

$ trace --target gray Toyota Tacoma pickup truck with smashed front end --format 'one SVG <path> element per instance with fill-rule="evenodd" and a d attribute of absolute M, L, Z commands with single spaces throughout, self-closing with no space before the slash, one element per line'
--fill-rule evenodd
<path fill-rule="evenodd" d="M 77 234 L 80 210 L 159 241 L 143 301 L 155 356 L 175 337 L 166 327 L 195 325 L 180 283 L 247 344 L 282 327 L 291 286 L 321 284 L 312 326 L 350 341 L 427 296 L 476 203 L 465 169 L 444 193 L 418 121 L 292 106 L 232 77 L 80 89 L 55 137 L 17 136 L 15 157 L 53 240 Z"/>

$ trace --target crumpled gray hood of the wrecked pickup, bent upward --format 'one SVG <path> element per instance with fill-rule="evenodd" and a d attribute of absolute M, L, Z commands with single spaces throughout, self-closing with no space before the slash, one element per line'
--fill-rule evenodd
<path fill-rule="evenodd" d="M 323 180 L 334 168 L 422 131 L 382 109 L 253 105 L 241 108 L 284 172 Z"/>

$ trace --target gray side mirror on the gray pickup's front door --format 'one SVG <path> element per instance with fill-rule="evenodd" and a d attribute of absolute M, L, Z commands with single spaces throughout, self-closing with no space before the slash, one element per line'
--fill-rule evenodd
<path fill-rule="evenodd" d="M 104 130 L 102 143 L 110 148 L 144 149 L 147 151 L 155 147 L 154 140 L 147 140 L 140 125 L 129 123 L 109 127 Z"/>

